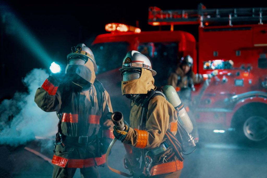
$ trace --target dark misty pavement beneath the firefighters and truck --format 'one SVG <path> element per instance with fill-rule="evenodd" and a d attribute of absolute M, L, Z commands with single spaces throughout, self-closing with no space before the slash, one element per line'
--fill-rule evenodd
<path fill-rule="evenodd" d="M 27 146 L 52 158 L 53 141 L 42 141 L 42 143 L 45 142 L 51 144 L 51 149 L 42 148 L 40 141 L 32 141 L 18 147 L 0 146 L 0 177 L 52 177 L 53 166 L 50 162 L 25 149 L 25 146 Z M 124 154 L 123 145 L 116 142 L 109 156 L 109 165 L 127 172 L 122 165 Z M 257 145 L 237 144 L 232 133 L 200 131 L 200 142 L 197 150 L 188 156 L 184 156 L 184 158 L 181 178 L 267 177 L 266 142 Z M 100 167 L 99 171 L 101 177 L 123 177 L 110 171 L 107 166 Z M 74 177 L 80 177 L 78 169 Z"/>

